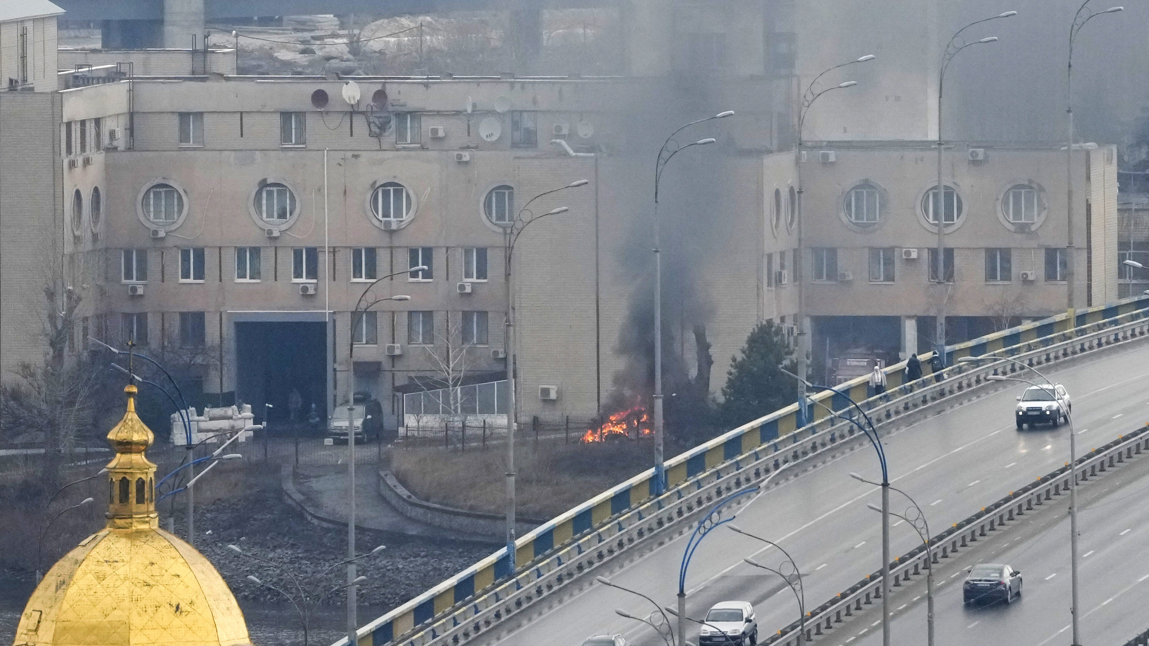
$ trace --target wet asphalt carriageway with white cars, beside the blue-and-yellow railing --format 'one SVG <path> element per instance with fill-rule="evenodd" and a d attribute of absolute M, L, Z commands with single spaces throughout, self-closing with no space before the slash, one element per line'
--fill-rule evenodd
<path fill-rule="evenodd" d="M 1081 452 L 1149 421 L 1149 345 L 1109 351 L 1049 375 L 1065 384 L 1073 398 Z M 886 436 L 890 482 L 917 499 L 933 533 L 1069 460 L 1066 426 L 1015 429 L 1013 398 L 1025 387 L 1018 384 Z M 865 447 L 758 494 L 737 512 L 735 524 L 781 544 L 794 556 L 805 576 L 807 606 L 811 608 L 881 567 L 880 517 L 866 508 L 879 503 L 880 495 L 876 487 L 851 479 L 850 471 L 880 479 L 876 455 Z M 896 493 L 890 500 L 895 510 L 907 506 Z M 686 537 L 678 538 L 620 569 L 601 574 L 662 606 L 674 607 L 685 544 Z M 892 555 L 917 544 L 917 535 L 904 523 L 893 528 Z M 781 579 L 742 562 L 745 556 L 754 556 L 763 564 L 777 566 L 779 552 L 763 547 L 725 528 L 708 536 L 695 551 L 686 577 L 687 614 L 700 617 L 718 601 L 746 600 L 755 606 L 761 635 L 796 620 L 797 603 Z M 504 644 L 578 646 L 592 635 L 622 633 L 637 646 L 663 644 L 653 629 L 615 614 L 615 608 L 634 615 L 653 610 L 649 602 L 626 592 L 594 584 L 546 603 L 546 609 L 523 613 L 520 616 L 532 621 L 500 632 L 499 639 Z M 1059 622 L 1051 618 L 1055 616 L 1059 617 L 1050 613 L 1030 630 Z M 923 644 L 924 633 L 920 637 L 901 643 Z M 687 639 L 697 643 L 697 626 L 687 630 Z"/>

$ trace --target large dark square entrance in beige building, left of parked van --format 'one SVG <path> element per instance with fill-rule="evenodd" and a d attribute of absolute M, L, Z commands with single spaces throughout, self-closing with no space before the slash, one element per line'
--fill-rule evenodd
<path fill-rule="evenodd" d="M 327 418 L 327 334 L 322 322 L 236 323 L 236 397 L 263 417 L 263 405 L 272 422 L 291 415 L 292 392 L 299 392 L 296 420 L 306 422 L 315 405 L 319 420 Z"/>

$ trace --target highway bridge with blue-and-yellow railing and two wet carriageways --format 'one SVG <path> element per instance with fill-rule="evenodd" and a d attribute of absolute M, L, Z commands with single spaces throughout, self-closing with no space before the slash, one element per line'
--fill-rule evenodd
<path fill-rule="evenodd" d="M 1147 306 L 1149 299 L 1132 299 L 1079 313 L 1072 324 L 1061 315 L 947 349 L 951 362 L 967 355 L 1008 354 L 1064 384 L 1073 397 L 1078 453 L 1086 455 L 1149 422 Z M 1013 398 L 1026 385 L 986 379 L 1002 366 L 958 363 L 939 383 L 927 376 L 904 385 L 894 367 L 893 392 L 865 402 L 882 431 L 892 483 L 916 498 L 935 536 L 1062 469 L 1069 460 L 1067 426 L 1016 430 Z M 1021 372 L 1021 378 L 1034 378 Z M 854 399 L 864 399 L 863 383 L 846 387 Z M 714 501 L 751 483 L 765 483 L 766 474 L 781 476 L 781 484 L 743 497 L 749 501 L 726 507 L 724 515 L 735 515 L 741 529 L 779 543 L 794 556 L 803 574 L 808 610 L 834 599 L 881 568 L 880 516 L 867 508 L 879 501 L 878 491 L 849 477 L 858 472 L 880 479 L 878 461 L 858 440 L 859 433 L 849 437 L 849 423 L 826 413 L 833 408 L 845 415 L 843 400 L 822 398 L 824 410 L 815 412 L 820 426 L 794 431 L 796 406 L 792 406 L 676 457 L 669 462 L 674 489 L 658 499 L 645 493 L 649 475 L 640 475 L 520 538 L 514 579 L 507 577 L 506 554 L 496 553 L 371 622 L 361 629 L 358 643 L 577 646 L 592 635 L 622 633 L 637 646 L 663 644 L 649 626 L 615 613 L 617 608 L 646 616 L 653 610 L 648 601 L 595 583 L 594 577 L 607 576 L 660 605 L 673 606 L 687 541 L 684 532 Z M 1136 492 L 1149 477 L 1143 475 L 1149 472 L 1149 460 L 1121 468 L 1125 471 L 1081 489 L 1081 554 L 1089 553 L 1081 569 L 1082 613 L 1088 613 L 1082 635 L 1104 633 L 1115 644 L 1146 629 L 1143 613 L 1132 612 L 1129 603 L 1136 598 L 1131 591 L 1149 583 L 1142 578 L 1149 566 L 1139 563 L 1134 553 L 1142 531 L 1149 530 L 1139 529 L 1140 516 L 1128 512 L 1128 502 L 1138 500 Z M 703 497 L 708 502 L 699 505 Z M 892 502 L 894 510 L 908 507 L 896 494 Z M 1010 644 L 1040 646 L 1056 639 L 1070 621 L 1064 589 L 1069 530 L 1062 523 L 1064 509 L 1056 513 L 1054 507 L 1050 503 L 1024 523 L 994 533 L 997 544 L 963 548 L 959 556 L 939 564 L 939 644 L 1008 637 Z M 579 518 L 585 518 L 583 525 Z M 593 523 L 589 529 L 587 522 Z M 897 523 L 892 544 L 890 554 L 897 555 L 920 546 L 920 539 Z M 772 567 L 781 561 L 777 549 L 763 549 L 761 543 L 726 528 L 707 536 L 686 577 L 687 614 L 700 617 L 723 600 L 749 601 L 764 641 L 797 620 L 797 605 L 779 577 L 745 563 L 747 556 Z M 1020 603 L 963 608 L 956 591 L 964 568 L 996 561 L 1025 574 Z M 890 595 L 895 644 L 925 643 L 919 587 L 915 580 Z M 880 633 L 874 624 L 880 616 L 871 609 L 818 639 L 839 646 L 870 644 L 874 632 Z M 696 644 L 697 631 L 688 630 L 686 638 Z M 342 644 L 346 640 L 337 646 Z"/>

